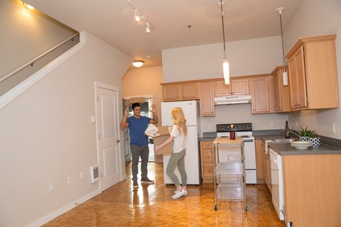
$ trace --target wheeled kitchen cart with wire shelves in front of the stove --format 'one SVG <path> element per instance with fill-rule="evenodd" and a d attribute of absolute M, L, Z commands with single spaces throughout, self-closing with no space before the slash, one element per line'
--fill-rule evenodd
<path fill-rule="evenodd" d="M 244 201 L 247 211 L 244 142 L 242 138 L 215 138 L 212 143 L 215 204 L 217 201 Z"/>

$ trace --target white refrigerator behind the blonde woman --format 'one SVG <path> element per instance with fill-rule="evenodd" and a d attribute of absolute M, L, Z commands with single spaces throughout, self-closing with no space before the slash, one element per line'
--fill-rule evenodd
<path fill-rule="evenodd" d="M 186 155 L 185 155 L 185 169 L 187 172 L 187 184 L 200 184 L 201 181 L 201 165 L 200 165 L 200 150 L 199 140 L 200 136 L 200 114 L 198 101 L 170 101 L 161 102 L 161 117 L 162 126 L 168 126 L 169 131 L 173 126 L 173 119 L 171 111 L 174 107 L 181 107 L 183 114 L 185 114 L 187 122 L 187 138 L 186 138 Z M 171 155 L 163 155 L 163 175 L 165 184 L 173 184 L 171 178 L 166 174 L 166 167 Z M 178 167 L 175 168 L 175 175 L 178 176 L 180 182 L 180 172 Z"/>

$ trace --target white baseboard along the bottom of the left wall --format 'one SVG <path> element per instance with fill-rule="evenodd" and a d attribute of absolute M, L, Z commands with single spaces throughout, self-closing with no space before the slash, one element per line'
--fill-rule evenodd
<path fill-rule="evenodd" d="M 53 220 L 53 218 L 56 218 L 56 217 L 60 216 L 61 214 L 64 214 L 67 211 L 70 211 L 71 209 L 74 209 L 76 206 L 84 203 L 85 201 L 91 199 L 94 196 L 97 196 L 100 193 L 101 193 L 100 190 L 96 189 L 96 191 L 91 192 L 90 194 L 87 194 L 87 195 L 83 196 L 82 198 L 77 199 L 76 201 L 73 201 L 70 204 L 67 204 L 66 206 L 63 206 L 62 208 L 58 209 L 57 211 L 53 211 L 52 213 L 44 216 L 43 218 L 40 218 L 37 221 L 29 223 L 26 227 L 42 226 L 43 224 L 48 223 L 48 221 Z"/>

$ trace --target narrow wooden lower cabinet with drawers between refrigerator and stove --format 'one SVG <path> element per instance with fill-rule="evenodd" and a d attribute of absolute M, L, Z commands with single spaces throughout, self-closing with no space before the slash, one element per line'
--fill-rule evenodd
<path fill-rule="evenodd" d="M 213 140 L 200 141 L 202 184 L 213 184 Z"/>

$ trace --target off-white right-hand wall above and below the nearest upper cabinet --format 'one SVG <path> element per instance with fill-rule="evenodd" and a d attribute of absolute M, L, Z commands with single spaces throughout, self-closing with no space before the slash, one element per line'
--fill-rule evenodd
<path fill-rule="evenodd" d="M 285 16 L 283 14 L 283 16 Z M 337 34 L 337 74 L 339 99 L 341 94 L 341 1 L 340 0 L 304 0 L 284 31 L 286 52 L 301 37 Z M 309 99 L 309 97 L 308 97 Z M 318 134 L 341 139 L 341 110 L 329 109 L 318 111 L 300 111 L 289 115 L 289 123 L 316 130 Z M 331 132 L 335 123 L 336 134 Z M 298 127 L 299 128 L 299 127 Z"/>

